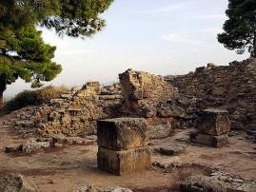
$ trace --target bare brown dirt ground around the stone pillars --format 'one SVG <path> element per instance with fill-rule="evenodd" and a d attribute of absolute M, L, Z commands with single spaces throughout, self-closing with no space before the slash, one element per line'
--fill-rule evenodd
<path fill-rule="evenodd" d="M 190 175 L 208 175 L 210 167 L 222 167 L 233 175 L 256 180 L 256 144 L 246 140 L 240 132 L 229 138 L 224 148 L 212 148 L 187 144 L 189 131 L 177 130 L 175 135 L 163 140 L 150 141 L 152 162 L 165 159 L 153 148 L 167 144 L 186 144 L 187 150 L 179 155 L 179 168 L 159 168 L 128 176 L 114 176 L 97 169 L 97 144 L 69 145 L 30 155 L 8 154 L 4 148 L 24 141 L 12 129 L 2 127 L 0 119 L 0 172 L 18 172 L 39 191 L 75 191 L 79 186 L 91 183 L 95 187 L 123 186 L 134 191 L 178 191 L 179 183 Z M 187 164 L 187 165 L 186 165 Z"/>

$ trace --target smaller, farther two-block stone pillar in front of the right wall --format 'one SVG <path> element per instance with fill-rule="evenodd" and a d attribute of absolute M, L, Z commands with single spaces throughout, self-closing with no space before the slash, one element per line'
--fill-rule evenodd
<path fill-rule="evenodd" d="M 220 109 L 206 109 L 198 125 L 199 131 L 190 135 L 190 141 L 215 147 L 226 145 L 230 130 L 228 112 Z"/>

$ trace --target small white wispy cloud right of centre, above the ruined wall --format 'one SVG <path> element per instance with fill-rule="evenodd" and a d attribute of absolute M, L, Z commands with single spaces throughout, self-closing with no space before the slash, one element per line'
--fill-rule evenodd
<path fill-rule="evenodd" d="M 167 35 L 163 35 L 162 39 L 171 42 L 171 43 L 184 43 L 184 44 L 203 44 L 203 42 L 189 39 L 187 37 L 184 37 L 183 35 L 179 33 L 169 33 Z"/>

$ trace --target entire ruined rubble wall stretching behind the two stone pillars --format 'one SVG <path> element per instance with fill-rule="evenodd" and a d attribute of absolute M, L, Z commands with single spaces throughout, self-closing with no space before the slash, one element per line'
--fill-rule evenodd
<path fill-rule="evenodd" d="M 135 117 L 148 122 L 148 138 L 170 136 L 176 128 L 198 128 L 207 108 L 228 111 L 231 129 L 256 130 L 256 59 L 229 66 L 208 64 L 178 76 L 157 76 L 128 69 L 120 84 L 89 82 L 49 103 L 12 113 L 20 133 L 43 137 L 96 134 L 98 120 Z"/>

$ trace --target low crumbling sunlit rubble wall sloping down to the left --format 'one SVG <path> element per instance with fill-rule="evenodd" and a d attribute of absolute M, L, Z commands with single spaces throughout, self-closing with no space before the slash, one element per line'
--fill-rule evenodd
<path fill-rule="evenodd" d="M 122 96 L 98 82 L 89 82 L 82 88 L 62 94 L 42 106 L 31 107 L 25 113 L 17 112 L 12 118 L 20 133 L 35 133 L 41 136 L 63 134 L 65 136 L 85 136 L 96 133 L 96 121 L 115 117 Z M 112 94 L 114 93 L 114 94 Z"/>

